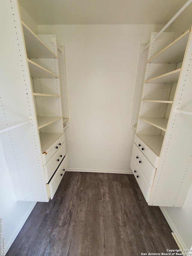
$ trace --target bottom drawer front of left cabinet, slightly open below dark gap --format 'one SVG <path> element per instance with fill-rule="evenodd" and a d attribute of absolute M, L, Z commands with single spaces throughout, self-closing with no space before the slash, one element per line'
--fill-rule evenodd
<path fill-rule="evenodd" d="M 61 165 L 59 166 L 58 170 L 56 171 L 55 175 L 52 177 L 51 181 L 49 182 L 49 191 L 50 191 L 51 199 L 53 199 L 53 196 L 61 182 L 61 179 L 64 176 L 67 166 L 68 166 L 68 155 L 65 156 Z"/>

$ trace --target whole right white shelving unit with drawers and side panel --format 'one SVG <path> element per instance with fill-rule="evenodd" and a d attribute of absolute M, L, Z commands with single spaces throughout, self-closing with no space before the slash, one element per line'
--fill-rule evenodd
<path fill-rule="evenodd" d="M 143 73 L 139 110 L 139 102 L 134 103 L 138 121 L 133 124 L 131 168 L 149 205 L 181 207 L 192 182 L 192 118 L 176 109 L 179 105 L 192 111 L 191 31 L 180 36 L 164 32 L 154 41 L 155 35 Z"/>

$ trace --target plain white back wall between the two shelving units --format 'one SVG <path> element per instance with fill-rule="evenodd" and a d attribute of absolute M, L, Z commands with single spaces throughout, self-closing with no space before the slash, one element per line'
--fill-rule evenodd
<path fill-rule="evenodd" d="M 141 44 L 157 25 L 39 25 L 65 47 L 68 170 L 131 172 L 130 128 Z"/>

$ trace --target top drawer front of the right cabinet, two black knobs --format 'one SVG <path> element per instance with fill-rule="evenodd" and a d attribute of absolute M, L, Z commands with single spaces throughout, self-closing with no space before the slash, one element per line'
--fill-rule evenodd
<path fill-rule="evenodd" d="M 157 168 L 159 156 L 156 155 L 155 152 L 149 146 L 147 146 L 147 144 L 143 140 L 141 140 L 140 137 L 138 137 L 136 134 L 134 137 L 134 143 L 141 150 L 141 152 L 146 156 L 146 158 L 149 159 L 152 165 L 155 168 Z"/>

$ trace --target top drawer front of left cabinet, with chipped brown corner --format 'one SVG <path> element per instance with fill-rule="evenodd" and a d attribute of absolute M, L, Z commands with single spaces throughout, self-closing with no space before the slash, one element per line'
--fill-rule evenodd
<path fill-rule="evenodd" d="M 57 150 L 61 147 L 61 145 L 65 141 L 65 134 L 62 134 L 61 137 L 58 138 L 48 149 L 46 152 L 42 154 L 43 156 L 43 164 L 45 165 L 49 159 L 57 152 Z"/>

